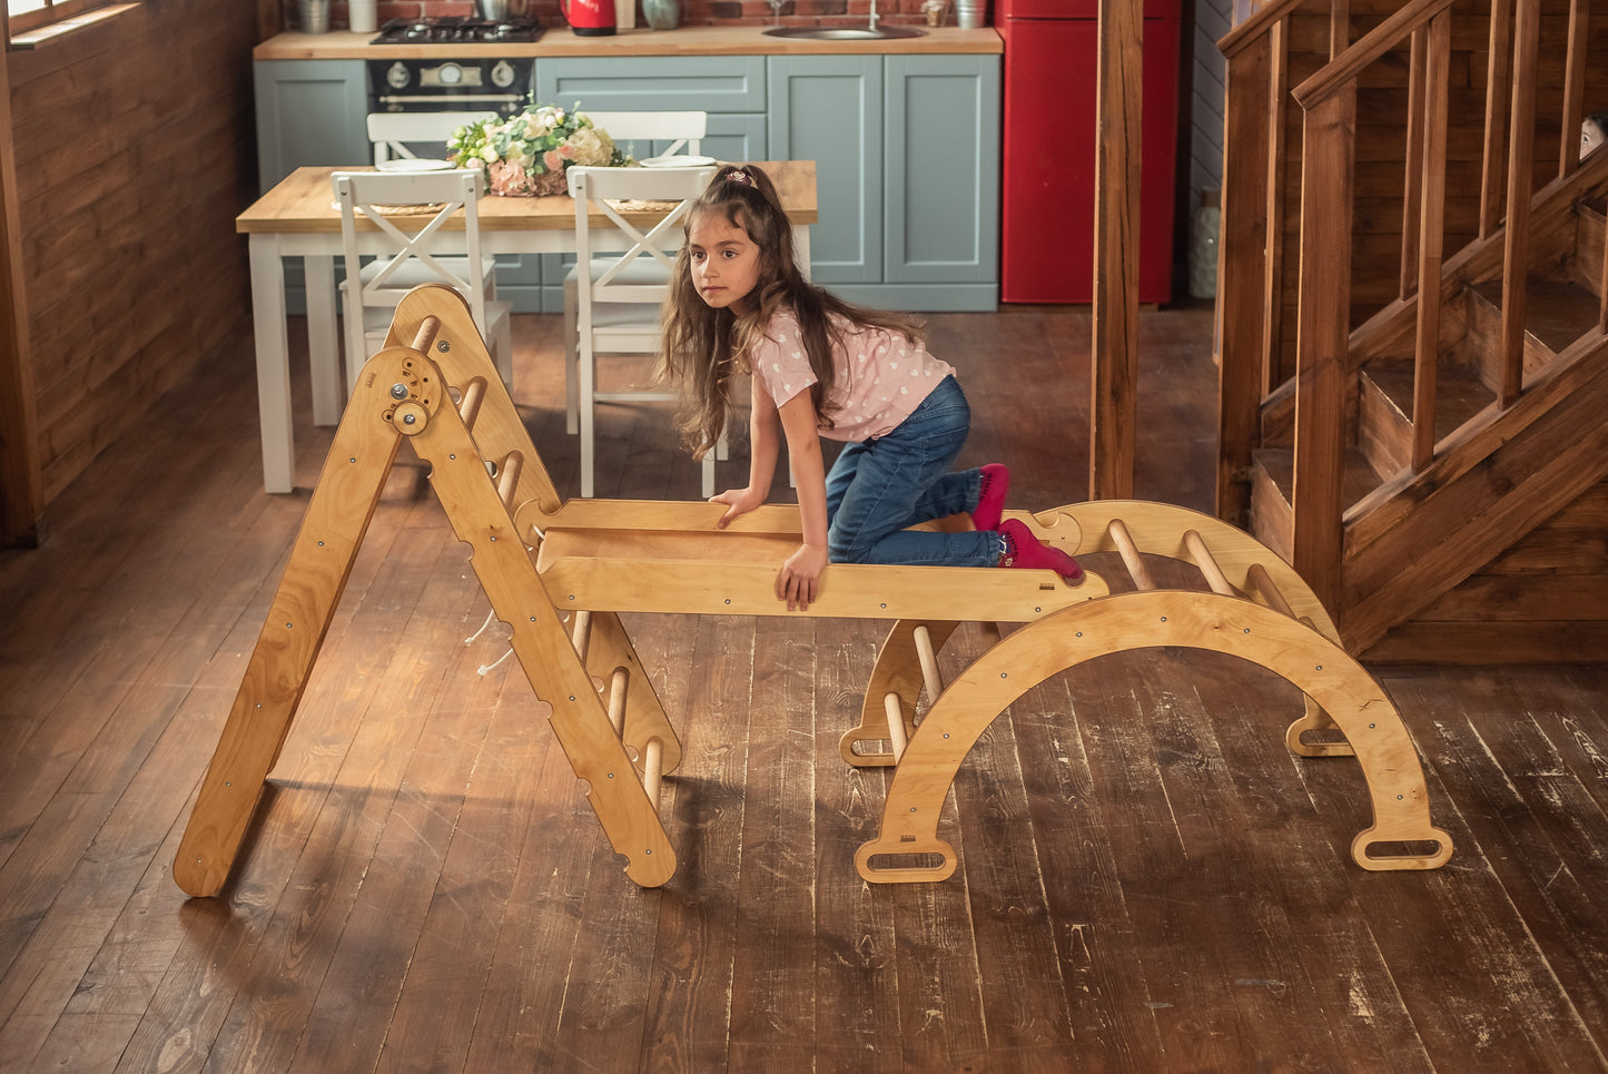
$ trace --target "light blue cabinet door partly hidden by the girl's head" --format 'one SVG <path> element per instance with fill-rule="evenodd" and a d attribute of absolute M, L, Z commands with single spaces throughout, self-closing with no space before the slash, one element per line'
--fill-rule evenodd
<path fill-rule="evenodd" d="M 815 161 L 817 283 L 883 278 L 883 58 L 772 56 L 772 161 Z"/>

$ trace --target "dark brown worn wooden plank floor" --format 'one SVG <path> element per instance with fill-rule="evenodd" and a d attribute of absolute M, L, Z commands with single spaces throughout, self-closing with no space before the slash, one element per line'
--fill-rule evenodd
<path fill-rule="evenodd" d="M 576 484 L 555 318 L 526 416 Z M 1138 492 L 1209 508 L 1204 310 L 1147 314 Z M 963 461 L 1087 487 L 1077 310 L 934 318 Z M 307 413 L 304 373 L 297 413 Z M 260 492 L 249 341 L 0 553 L 0 1071 L 1608 1069 L 1608 667 L 1375 669 L 1421 752 L 1433 873 L 1367 873 L 1351 759 L 1211 654 L 1106 658 L 962 767 L 954 878 L 868 886 L 883 772 L 838 736 L 886 624 L 630 617 L 685 743 L 680 871 L 626 879 L 416 469 L 388 487 L 225 897 L 169 868 L 330 431 Z M 600 492 L 696 495 L 605 413 Z M 404 450 L 404 457 L 407 452 Z M 743 478 L 741 463 L 727 471 Z M 946 662 L 981 653 L 963 627 Z"/>

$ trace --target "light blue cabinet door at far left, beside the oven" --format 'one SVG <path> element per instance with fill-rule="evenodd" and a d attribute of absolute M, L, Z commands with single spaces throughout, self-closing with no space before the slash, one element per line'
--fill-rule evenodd
<path fill-rule="evenodd" d="M 368 84 L 362 59 L 264 59 L 257 93 L 262 190 L 306 164 L 367 164 Z"/>

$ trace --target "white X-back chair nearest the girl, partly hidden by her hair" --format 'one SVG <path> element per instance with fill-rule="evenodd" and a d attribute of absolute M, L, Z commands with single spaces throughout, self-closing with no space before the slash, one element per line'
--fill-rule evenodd
<path fill-rule="evenodd" d="M 714 177 L 712 167 L 571 167 L 569 195 L 576 199 L 576 347 L 579 367 L 580 495 L 593 494 L 593 408 L 598 402 L 674 399 L 666 392 L 597 391 L 597 355 L 656 354 L 659 304 L 667 291 L 675 249 L 682 243 L 687 209 Z M 611 203 L 664 203 L 651 227 L 638 228 Z M 600 211 L 606 233 L 624 233 L 630 248 L 614 257 L 597 257 L 598 230 L 592 212 Z M 658 267 L 661 278 L 642 283 L 638 262 Z M 580 267 L 589 265 L 590 272 Z M 714 452 L 703 460 L 704 497 L 714 495 Z"/>

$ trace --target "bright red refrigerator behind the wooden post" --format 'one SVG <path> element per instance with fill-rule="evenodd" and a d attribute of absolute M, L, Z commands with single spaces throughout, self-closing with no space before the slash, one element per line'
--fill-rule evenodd
<path fill-rule="evenodd" d="M 1145 2 L 1138 301 L 1172 297 L 1179 3 Z M 995 0 L 1005 40 L 1000 299 L 1089 302 L 1095 259 L 1095 0 Z"/>

